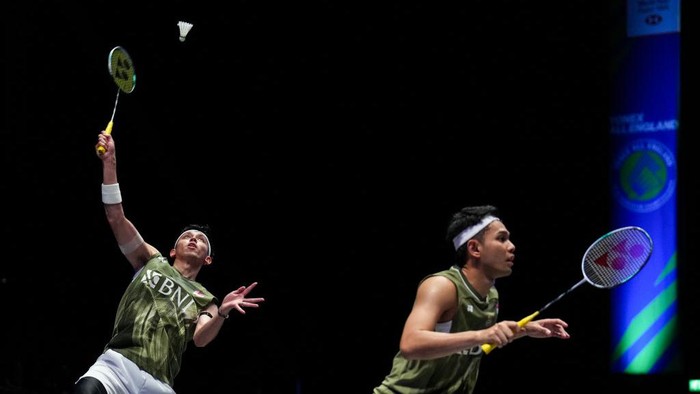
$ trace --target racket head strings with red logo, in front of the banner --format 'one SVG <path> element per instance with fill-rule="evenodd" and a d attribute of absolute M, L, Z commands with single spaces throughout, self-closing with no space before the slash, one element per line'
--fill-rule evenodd
<path fill-rule="evenodd" d="M 644 231 L 631 228 L 612 233 L 589 248 L 584 259 L 583 274 L 594 286 L 617 286 L 644 267 L 651 251 L 651 238 Z"/>

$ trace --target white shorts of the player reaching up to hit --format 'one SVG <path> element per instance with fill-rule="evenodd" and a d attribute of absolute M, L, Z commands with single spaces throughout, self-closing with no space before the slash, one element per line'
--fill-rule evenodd
<path fill-rule="evenodd" d="M 109 394 L 175 394 L 172 387 L 111 349 L 102 353 L 81 378 L 84 376 L 102 382 Z"/>

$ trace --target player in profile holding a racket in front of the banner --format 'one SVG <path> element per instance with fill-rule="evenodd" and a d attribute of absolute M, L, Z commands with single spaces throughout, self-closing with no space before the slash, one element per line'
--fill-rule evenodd
<path fill-rule="evenodd" d="M 391 371 L 373 394 L 472 393 L 482 345 L 502 347 L 524 336 L 569 338 L 561 319 L 523 327 L 498 321 L 496 279 L 511 274 L 515 245 L 497 211 L 475 206 L 452 216 L 447 238 L 456 262 L 420 282 Z"/>

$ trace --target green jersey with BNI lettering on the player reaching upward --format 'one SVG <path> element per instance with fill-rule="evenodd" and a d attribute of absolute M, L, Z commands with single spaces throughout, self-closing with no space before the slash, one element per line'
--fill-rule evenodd
<path fill-rule="evenodd" d="M 216 298 L 156 254 L 127 287 L 114 322 L 112 349 L 172 387 L 199 312 Z"/>

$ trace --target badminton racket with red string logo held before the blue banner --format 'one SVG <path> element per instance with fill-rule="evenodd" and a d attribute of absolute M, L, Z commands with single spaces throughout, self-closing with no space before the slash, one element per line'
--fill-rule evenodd
<path fill-rule="evenodd" d="M 651 237 L 641 227 L 622 227 L 603 235 L 593 242 L 583 255 L 581 262 L 583 279 L 537 312 L 520 320 L 518 326 L 523 327 L 545 309 L 586 282 L 600 289 L 611 289 L 627 282 L 646 265 L 653 248 L 654 243 Z M 489 354 L 494 348 L 494 345 L 488 343 L 481 345 L 481 349 L 486 354 Z"/>

